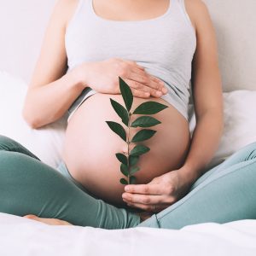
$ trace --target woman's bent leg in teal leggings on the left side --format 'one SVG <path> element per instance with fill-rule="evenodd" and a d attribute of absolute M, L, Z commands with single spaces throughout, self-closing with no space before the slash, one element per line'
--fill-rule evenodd
<path fill-rule="evenodd" d="M 0 136 L 0 212 L 60 218 L 71 224 L 104 229 L 125 229 L 140 223 L 137 214 L 86 194 L 20 143 L 3 136 Z"/>

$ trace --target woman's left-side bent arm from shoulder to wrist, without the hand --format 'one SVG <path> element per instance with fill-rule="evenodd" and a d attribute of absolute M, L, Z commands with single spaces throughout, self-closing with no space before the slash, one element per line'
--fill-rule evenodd
<path fill-rule="evenodd" d="M 32 128 L 47 125 L 67 111 L 84 89 L 84 84 L 67 73 L 64 45 L 67 20 L 76 1 L 59 0 L 55 3 L 44 34 L 41 52 L 26 94 L 23 116 Z"/>

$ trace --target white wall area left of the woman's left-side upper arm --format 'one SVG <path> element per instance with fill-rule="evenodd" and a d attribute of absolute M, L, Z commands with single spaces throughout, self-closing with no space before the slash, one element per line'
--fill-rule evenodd
<path fill-rule="evenodd" d="M 0 0 L 0 70 L 28 81 L 55 0 Z"/>

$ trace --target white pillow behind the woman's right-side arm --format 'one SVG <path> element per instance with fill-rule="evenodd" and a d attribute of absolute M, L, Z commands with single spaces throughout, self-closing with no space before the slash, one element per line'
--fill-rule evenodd
<path fill-rule="evenodd" d="M 230 154 L 256 142 L 256 90 L 224 92 L 224 132 L 218 149 L 207 169 L 218 165 Z M 195 112 L 189 119 L 189 130 L 195 129 Z"/>

